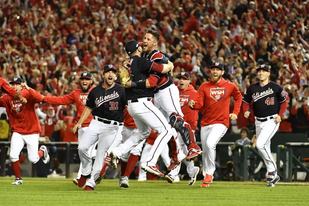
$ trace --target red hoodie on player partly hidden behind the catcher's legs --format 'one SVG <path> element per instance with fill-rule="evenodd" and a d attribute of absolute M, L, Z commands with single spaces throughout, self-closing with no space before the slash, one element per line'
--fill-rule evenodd
<path fill-rule="evenodd" d="M 197 90 L 189 84 L 189 87 L 185 90 L 179 90 L 179 97 L 180 97 L 180 107 L 182 113 L 184 113 L 184 121 L 190 124 L 192 130 L 196 130 L 197 127 L 197 120 L 198 120 L 198 111 L 190 109 L 188 103 L 191 99 L 193 99 L 197 93 Z"/>

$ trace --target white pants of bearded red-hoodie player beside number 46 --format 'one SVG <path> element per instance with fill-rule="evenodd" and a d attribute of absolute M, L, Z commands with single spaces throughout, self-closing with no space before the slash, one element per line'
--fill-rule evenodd
<path fill-rule="evenodd" d="M 203 175 L 213 175 L 216 170 L 216 145 L 225 135 L 227 127 L 223 124 L 211 124 L 201 127 L 201 142 L 203 148 Z"/>

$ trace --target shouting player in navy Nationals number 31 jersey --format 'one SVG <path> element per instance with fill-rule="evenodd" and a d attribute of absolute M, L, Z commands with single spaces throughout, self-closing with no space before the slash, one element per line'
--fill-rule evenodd
<path fill-rule="evenodd" d="M 93 119 L 89 124 L 89 128 L 78 144 L 78 153 L 82 162 L 82 175 L 78 180 L 78 186 L 83 187 L 86 185 L 83 190 L 93 191 L 95 189 L 95 180 L 102 170 L 104 155 L 116 138 L 121 116 L 123 115 L 122 112 L 126 105 L 124 88 L 114 82 L 116 72 L 114 65 L 104 66 L 102 74 L 104 83 L 99 84 L 90 91 L 86 100 L 86 108 L 73 128 L 74 132 L 76 132 L 92 114 Z M 97 141 L 96 158 L 92 166 L 88 150 Z M 89 177 L 91 178 L 86 183 Z"/>

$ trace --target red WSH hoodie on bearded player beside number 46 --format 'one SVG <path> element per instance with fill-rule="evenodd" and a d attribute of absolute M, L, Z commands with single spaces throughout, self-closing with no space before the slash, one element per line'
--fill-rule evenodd
<path fill-rule="evenodd" d="M 231 96 L 234 98 L 233 113 L 238 115 L 242 102 L 242 95 L 237 86 L 225 79 L 214 83 L 211 79 L 203 83 L 197 90 L 196 97 L 193 98 L 197 104 L 194 110 L 203 111 L 201 127 L 211 124 L 224 124 L 229 126 L 229 105 Z"/>

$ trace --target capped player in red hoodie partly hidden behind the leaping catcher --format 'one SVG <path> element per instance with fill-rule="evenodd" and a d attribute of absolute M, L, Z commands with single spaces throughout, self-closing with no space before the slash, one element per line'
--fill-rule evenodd
<path fill-rule="evenodd" d="M 192 131 L 196 130 L 197 120 L 198 120 L 198 111 L 191 110 L 188 106 L 190 99 L 193 99 L 197 93 L 194 87 L 190 84 L 190 75 L 187 72 L 181 72 L 177 76 L 178 78 L 178 90 L 180 92 L 180 107 L 181 111 L 184 114 L 184 121 L 188 122 L 192 126 Z M 179 139 L 180 148 L 183 150 L 184 154 L 188 154 L 187 146 L 184 144 L 182 139 Z M 196 181 L 197 174 L 200 171 L 199 167 L 195 167 L 193 162 L 188 162 L 184 160 L 184 164 L 187 166 L 187 172 L 189 175 L 189 185 L 193 185 Z M 180 163 L 181 165 L 181 163 Z M 179 174 L 180 165 L 176 169 L 171 170 L 171 172 L 165 175 L 165 179 L 169 183 L 174 183 L 176 176 Z"/>

